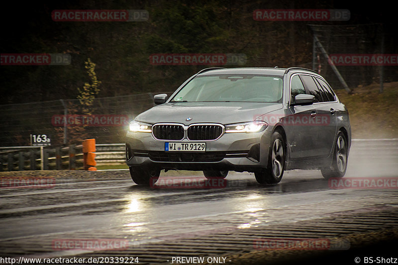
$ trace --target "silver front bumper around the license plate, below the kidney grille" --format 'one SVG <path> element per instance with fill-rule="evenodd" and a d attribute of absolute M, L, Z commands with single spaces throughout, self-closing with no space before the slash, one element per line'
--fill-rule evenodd
<path fill-rule="evenodd" d="M 206 152 L 166 152 L 165 142 L 156 140 L 151 133 L 128 132 L 126 137 L 126 163 L 129 167 L 149 166 L 176 170 L 229 170 L 253 172 L 266 168 L 271 131 L 259 133 L 224 133 L 206 143 Z"/>

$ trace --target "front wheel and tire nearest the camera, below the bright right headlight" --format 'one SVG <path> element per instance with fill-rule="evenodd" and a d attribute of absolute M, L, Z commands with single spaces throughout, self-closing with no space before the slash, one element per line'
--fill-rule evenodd
<path fill-rule="evenodd" d="M 255 172 L 260 184 L 276 184 L 282 180 L 285 171 L 286 147 L 285 141 L 279 132 L 272 134 L 271 148 L 268 154 L 268 168 Z"/>

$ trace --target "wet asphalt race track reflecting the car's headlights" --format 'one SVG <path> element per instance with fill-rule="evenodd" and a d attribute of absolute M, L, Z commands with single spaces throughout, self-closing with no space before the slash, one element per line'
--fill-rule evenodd
<path fill-rule="evenodd" d="M 398 176 L 394 155 L 377 159 L 366 150 L 353 148 L 347 178 Z M 257 184 L 252 174 L 230 173 L 226 182 L 211 188 L 203 188 L 200 174 L 168 172 L 156 187 L 135 185 L 127 171 L 117 176 L 107 171 L 96 179 L 89 172 L 87 179 L 73 174 L 56 178 L 52 188 L 0 190 L 1 257 L 133 255 L 140 264 L 157 264 L 170 263 L 174 256 L 252 252 L 253 239 L 268 237 L 266 231 L 273 227 L 286 227 L 277 238 L 331 238 L 397 228 L 397 188 L 331 189 L 319 171 L 285 172 L 281 183 L 269 186 Z M 167 184 L 165 175 L 180 186 Z M 354 225 L 328 221 L 322 232 L 288 229 L 333 216 L 359 216 L 355 212 L 372 215 Z M 244 239 L 236 242 L 237 237 Z M 54 247 L 54 240 L 65 239 L 120 239 L 129 246 L 101 251 Z"/>

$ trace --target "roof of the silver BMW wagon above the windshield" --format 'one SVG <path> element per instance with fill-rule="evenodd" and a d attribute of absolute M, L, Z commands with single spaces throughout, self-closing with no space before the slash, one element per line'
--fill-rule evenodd
<path fill-rule="evenodd" d="M 199 71 L 198 76 L 209 75 L 234 75 L 234 74 L 247 74 L 247 75 L 271 75 L 283 76 L 289 71 L 309 72 L 314 74 L 316 72 L 305 68 L 267 68 L 267 67 L 241 67 L 241 68 L 206 68 Z"/>

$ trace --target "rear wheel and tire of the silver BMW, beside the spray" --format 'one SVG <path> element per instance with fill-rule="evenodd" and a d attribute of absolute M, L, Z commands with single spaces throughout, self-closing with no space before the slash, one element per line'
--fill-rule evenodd
<path fill-rule="evenodd" d="M 347 171 L 348 162 L 348 142 L 344 133 L 338 132 L 334 143 L 333 161 L 329 168 L 321 169 L 324 178 L 344 177 Z"/>

